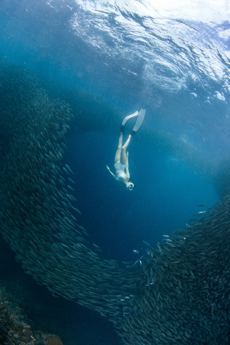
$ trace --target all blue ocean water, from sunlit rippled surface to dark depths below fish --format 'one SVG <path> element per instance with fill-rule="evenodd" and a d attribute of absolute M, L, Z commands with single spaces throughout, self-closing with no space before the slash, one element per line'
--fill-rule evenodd
<path fill-rule="evenodd" d="M 229 182 L 230 7 L 195 5 L 0 2 L 5 61 L 58 82 L 54 93 L 73 109 L 63 160 L 76 174 L 71 193 L 81 212 L 78 224 L 101 257 L 120 267 L 139 259 L 133 250 L 143 241 L 155 245 L 170 230 L 186 228 L 193 214 L 217 203 Z M 140 107 L 146 117 L 128 147 L 136 188 L 128 191 L 106 165 L 114 172 L 120 123 Z M 37 327 L 65 345 L 119 344 L 103 316 L 52 296 L 23 272 L 2 238 L 1 248 L 2 280 L 28 300 L 20 303 L 29 303 Z"/>

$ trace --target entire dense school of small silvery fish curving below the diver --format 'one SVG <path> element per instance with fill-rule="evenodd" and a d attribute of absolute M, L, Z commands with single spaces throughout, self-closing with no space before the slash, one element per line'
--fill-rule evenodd
<path fill-rule="evenodd" d="M 147 244 L 140 269 L 102 260 L 77 224 L 74 175 L 62 166 L 72 117 L 32 71 L 1 63 L 0 224 L 16 258 L 52 294 L 108 316 L 126 344 L 227 344 L 229 195 Z"/>

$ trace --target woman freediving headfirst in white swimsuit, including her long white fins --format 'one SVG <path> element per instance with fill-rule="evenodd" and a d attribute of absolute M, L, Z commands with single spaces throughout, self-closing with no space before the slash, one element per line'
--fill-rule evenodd
<path fill-rule="evenodd" d="M 126 186 L 127 189 L 132 190 L 136 187 L 135 183 L 132 180 L 132 176 L 130 177 L 129 175 L 129 163 L 128 163 L 128 157 L 129 157 L 129 152 L 126 149 L 129 145 L 130 139 L 132 136 L 140 129 L 144 116 L 146 113 L 146 109 L 140 108 L 139 112 L 136 111 L 133 114 L 126 116 L 121 124 L 121 133 L 120 133 L 120 138 L 118 142 L 118 148 L 117 152 L 114 158 L 114 168 L 116 170 L 116 175 L 110 171 L 108 165 L 106 166 L 107 169 L 109 170 L 110 174 L 114 177 L 114 179 L 117 181 L 119 186 Z M 124 134 L 124 128 L 126 125 L 126 122 L 131 118 L 137 116 L 137 120 L 135 122 L 135 125 L 133 129 L 131 130 L 131 133 L 126 141 L 126 143 L 122 146 L 122 139 L 123 139 L 123 134 Z M 126 169 L 126 172 L 124 172 L 124 169 Z"/>

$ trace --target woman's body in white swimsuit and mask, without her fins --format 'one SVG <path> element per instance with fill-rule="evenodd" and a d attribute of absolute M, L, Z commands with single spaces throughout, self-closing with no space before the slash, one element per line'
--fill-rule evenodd
<path fill-rule="evenodd" d="M 110 171 L 108 165 L 106 167 L 109 170 L 110 174 L 117 181 L 119 186 L 121 187 L 126 186 L 127 189 L 132 190 L 133 188 L 135 188 L 135 183 L 132 180 L 130 180 L 129 164 L 128 164 L 129 152 L 126 153 L 126 149 L 131 139 L 131 135 L 129 135 L 126 143 L 123 146 L 122 146 L 122 138 L 123 138 L 123 133 L 121 132 L 116 156 L 114 159 L 114 168 L 116 170 L 116 176 Z M 124 168 L 126 169 L 126 172 L 124 172 Z"/>

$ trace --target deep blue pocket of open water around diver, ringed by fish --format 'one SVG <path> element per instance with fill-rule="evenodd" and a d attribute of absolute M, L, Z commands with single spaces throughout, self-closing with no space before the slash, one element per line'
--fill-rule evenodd
<path fill-rule="evenodd" d="M 129 171 L 136 182 L 132 193 L 119 187 L 106 170 L 114 172 L 118 135 L 96 132 L 68 140 L 67 164 L 76 174 L 76 199 L 82 213 L 78 219 L 106 258 L 135 259 L 133 249 L 143 240 L 160 241 L 162 234 L 186 227 L 188 219 L 218 201 L 215 189 L 196 171 L 175 165 L 166 154 L 133 140 L 129 149 Z M 80 167 L 80 169 L 79 169 Z"/>

